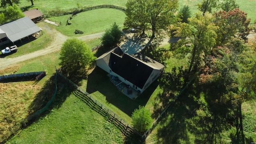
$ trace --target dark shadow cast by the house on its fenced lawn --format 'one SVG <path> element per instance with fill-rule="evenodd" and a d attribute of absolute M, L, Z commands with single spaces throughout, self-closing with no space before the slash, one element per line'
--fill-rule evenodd
<path fill-rule="evenodd" d="M 142 95 L 135 100 L 132 100 L 128 96 L 120 92 L 116 86 L 110 81 L 110 77 L 107 76 L 107 72 L 99 68 L 94 68 L 92 73 L 88 76 L 88 82 L 86 92 L 92 94 L 94 92 L 100 92 L 105 97 L 106 101 L 113 104 L 122 112 L 128 116 L 132 115 L 132 112 L 140 106 L 145 106 L 150 96 L 158 86 L 158 83 L 153 82 L 149 88 Z M 92 94 L 93 96 L 93 94 Z M 99 95 L 98 95 L 99 96 Z"/>

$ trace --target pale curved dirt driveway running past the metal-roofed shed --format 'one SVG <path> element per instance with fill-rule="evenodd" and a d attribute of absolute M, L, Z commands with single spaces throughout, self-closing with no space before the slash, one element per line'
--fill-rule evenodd
<path fill-rule="evenodd" d="M 50 29 L 49 27 L 47 27 L 47 25 L 44 26 L 44 30 L 50 31 L 52 34 L 54 34 L 54 40 L 52 41 L 52 44 L 50 44 L 50 46 L 48 46 L 47 48 L 44 48 L 42 50 L 38 50 L 36 52 L 18 56 L 16 58 L 0 58 L 0 70 L 4 69 L 12 64 L 16 64 L 18 62 L 23 62 L 23 61 L 29 60 L 31 58 L 36 58 L 38 56 L 43 56 L 45 54 L 49 54 L 49 53 L 58 51 L 58 50 L 60 50 L 60 47 L 62 46 L 62 44 L 69 38 L 68 36 L 61 34 L 60 32 L 58 32 L 55 29 Z M 103 34 L 103 32 L 100 32 L 100 33 L 96 33 L 96 34 L 79 36 L 78 38 L 82 39 L 82 40 L 90 40 L 93 38 L 100 38 L 102 36 L 102 34 Z"/>

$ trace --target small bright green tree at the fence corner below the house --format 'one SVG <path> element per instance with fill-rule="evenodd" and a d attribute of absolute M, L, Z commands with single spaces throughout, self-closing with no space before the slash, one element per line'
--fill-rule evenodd
<path fill-rule="evenodd" d="M 139 106 L 139 109 L 132 112 L 132 125 L 139 132 L 148 130 L 152 121 L 150 110 L 145 109 L 144 106 Z"/>

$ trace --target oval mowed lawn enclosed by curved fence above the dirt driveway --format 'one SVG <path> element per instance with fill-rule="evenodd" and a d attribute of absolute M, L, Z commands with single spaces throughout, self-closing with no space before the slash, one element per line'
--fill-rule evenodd
<path fill-rule="evenodd" d="M 49 18 L 49 20 L 61 22 L 62 25 L 56 29 L 66 36 L 81 36 L 104 32 L 107 28 L 116 22 L 121 28 L 124 24 L 125 13 L 110 8 L 102 8 L 81 12 L 72 17 L 71 24 L 66 25 L 70 15 Z M 84 34 L 75 34 L 75 30 L 81 30 Z"/>

